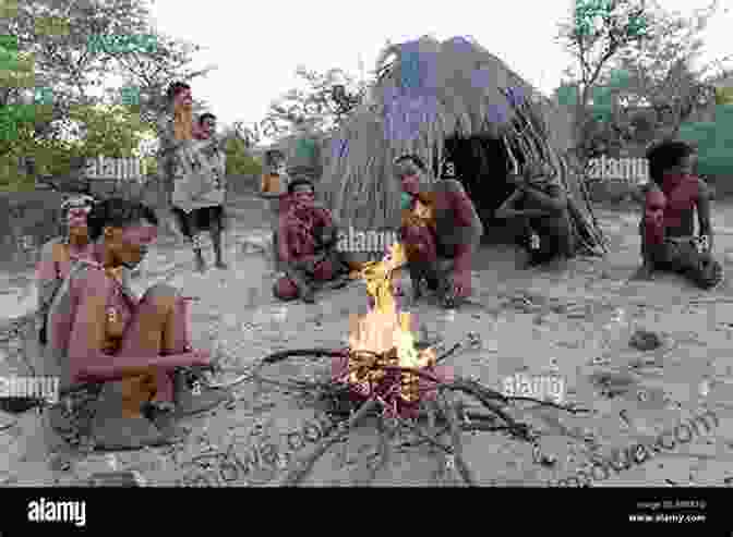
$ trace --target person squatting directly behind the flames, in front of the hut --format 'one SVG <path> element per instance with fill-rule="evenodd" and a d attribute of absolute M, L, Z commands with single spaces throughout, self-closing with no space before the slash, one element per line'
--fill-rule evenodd
<path fill-rule="evenodd" d="M 453 162 L 443 164 L 442 180 L 430 184 L 424 162 L 414 155 L 395 161 L 402 186 L 401 240 L 408 258 L 414 298 L 422 282 L 453 308 L 471 294 L 471 261 L 483 224 Z"/>

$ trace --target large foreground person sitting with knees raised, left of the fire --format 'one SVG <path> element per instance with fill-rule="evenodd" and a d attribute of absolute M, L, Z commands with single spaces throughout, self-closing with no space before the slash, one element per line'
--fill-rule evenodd
<path fill-rule="evenodd" d="M 203 410 L 226 395 L 207 391 L 196 400 L 185 387 L 182 366 L 211 367 L 208 353 L 190 346 L 188 300 L 167 284 L 139 300 L 121 278 L 157 236 L 154 211 L 108 199 L 92 209 L 87 222 L 92 255 L 73 267 L 53 300 L 49 350 L 69 371 L 62 383 L 108 382 L 111 406 L 97 412 L 93 424 L 98 447 L 165 443 L 176 434 L 171 411 Z M 118 380 L 125 380 L 119 396 L 109 383 Z"/>

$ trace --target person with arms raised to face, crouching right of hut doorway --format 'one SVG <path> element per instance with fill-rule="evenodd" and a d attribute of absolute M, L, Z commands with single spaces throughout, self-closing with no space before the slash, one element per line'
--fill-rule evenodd
<path fill-rule="evenodd" d="M 567 194 L 551 171 L 534 164 L 524 178 L 509 174 L 517 190 L 496 209 L 496 218 L 519 218 L 520 245 L 529 256 L 528 266 L 567 259 L 575 253 Z"/>

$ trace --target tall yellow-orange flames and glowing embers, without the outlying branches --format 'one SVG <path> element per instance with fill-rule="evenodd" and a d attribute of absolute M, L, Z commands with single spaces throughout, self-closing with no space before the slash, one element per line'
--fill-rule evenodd
<path fill-rule="evenodd" d="M 432 349 L 419 351 L 410 329 L 411 316 L 399 312 L 393 294 L 393 277 L 407 263 L 404 246 L 395 243 L 381 261 L 369 263 L 360 276 L 373 301 L 370 310 L 353 317 L 349 332 L 348 382 L 362 395 L 382 393 L 396 408 L 396 398 L 406 403 L 419 400 L 419 377 L 410 373 L 390 375 L 380 366 L 422 369 L 435 365 Z M 385 390 L 385 385 L 392 387 Z"/>

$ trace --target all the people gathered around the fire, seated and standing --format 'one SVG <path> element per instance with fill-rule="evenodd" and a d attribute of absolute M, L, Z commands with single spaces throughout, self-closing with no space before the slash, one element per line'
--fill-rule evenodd
<path fill-rule="evenodd" d="M 175 213 L 197 268 L 205 269 L 201 232 L 206 229 L 216 265 L 226 268 L 225 159 L 214 136 L 216 118 L 204 114 L 194 122 L 185 84 L 171 85 L 168 96 L 171 113 L 161 120 L 161 130 L 168 133 L 164 152 Z M 694 158 L 693 148 L 677 142 L 660 144 L 648 154 L 653 181 L 639 224 L 639 276 L 672 270 L 711 289 L 723 274 L 711 255 L 709 188 L 693 174 Z M 274 293 L 281 300 L 313 303 L 319 289 L 348 279 L 349 259 L 336 247 L 338 223 L 315 200 L 308 172 L 289 169 L 278 151 L 266 159 L 261 186 L 272 216 L 278 271 Z M 429 174 L 416 155 L 394 161 L 401 186 L 400 240 L 414 298 L 433 292 L 444 307 L 453 308 L 471 294 L 471 266 L 484 225 L 453 162 L 443 162 L 438 181 Z M 572 257 L 573 223 L 563 185 L 542 167 L 528 167 L 509 181 L 516 191 L 496 216 L 520 220 L 529 265 Z M 142 297 L 130 289 L 130 271 L 156 240 L 158 218 L 136 202 L 89 196 L 67 199 L 61 212 L 65 230 L 44 246 L 37 269 L 44 354 L 64 386 L 122 381 L 121 413 L 103 416 L 98 444 L 116 449 L 169 442 L 178 435 L 178 417 L 211 408 L 227 394 L 211 381 L 216 367 L 209 353 L 192 347 L 190 300 L 168 284 L 156 284 Z"/>

